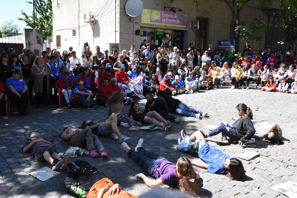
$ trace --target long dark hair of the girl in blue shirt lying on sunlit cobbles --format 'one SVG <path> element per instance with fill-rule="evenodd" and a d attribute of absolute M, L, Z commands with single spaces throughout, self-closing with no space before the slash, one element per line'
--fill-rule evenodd
<path fill-rule="evenodd" d="M 225 161 L 224 161 L 225 162 Z M 224 163 L 222 162 L 222 163 Z M 242 162 L 239 159 L 236 158 L 230 158 L 230 165 L 229 169 L 227 169 L 227 174 L 226 176 L 232 180 L 241 180 L 244 178 L 245 173 L 244 173 L 244 167 L 242 165 Z"/>

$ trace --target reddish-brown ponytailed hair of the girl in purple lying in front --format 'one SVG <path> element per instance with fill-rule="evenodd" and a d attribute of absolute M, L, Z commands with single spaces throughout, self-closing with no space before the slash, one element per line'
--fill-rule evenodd
<path fill-rule="evenodd" d="M 180 178 L 178 181 L 179 189 L 182 192 L 188 191 L 194 194 L 195 196 L 198 196 L 200 190 L 196 188 L 193 182 L 189 181 L 194 177 L 194 169 L 188 158 L 181 157 L 178 159 L 176 163 L 176 173 L 182 176 L 182 178 Z"/>

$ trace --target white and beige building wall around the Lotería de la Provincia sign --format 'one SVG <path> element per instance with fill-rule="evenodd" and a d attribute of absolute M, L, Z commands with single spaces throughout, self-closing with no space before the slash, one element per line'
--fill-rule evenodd
<path fill-rule="evenodd" d="M 53 1 L 53 43 L 51 47 L 56 48 L 56 36 L 61 35 L 61 49 L 58 49 L 61 51 L 72 45 L 74 51 L 80 52 L 85 42 L 89 43 L 92 52 L 95 52 L 96 45 L 99 45 L 103 51 L 109 43 L 119 43 L 120 50 L 129 50 L 130 45 L 135 44 L 138 50 L 140 36 L 135 35 L 135 30 L 140 27 L 184 30 L 184 46 L 186 47 L 189 43 L 195 42 L 195 30 L 190 29 L 190 23 L 195 21 L 196 17 L 208 18 L 206 47 L 211 44 L 214 48 L 217 46 L 217 40 L 230 38 L 231 12 L 224 0 L 199 0 L 199 2 L 176 0 L 172 4 L 169 4 L 169 1 L 158 0 L 143 0 L 142 2 L 144 8 L 147 9 L 164 10 L 164 6 L 181 8 L 183 12 L 178 13 L 187 14 L 187 28 L 142 24 L 140 16 L 133 18 L 127 15 L 125 11 L 127 0 L 58 0 L 58 4 L 57 1 Z M 241 20 L 246 22 L 247 27 L 254 22 L 256 16 L 262 16 L 260 8 L 259 1 L 251 0 L 241 11 Z M 93 26 L 83 20 L 83 13 L 88 15 L 88 12 L 94 15 Z M 118 31 L 116 39 L 115 25 Z M 76 31 L 75 36 L 72 36 L 72 30 Z M 252 49 L 261 48 L 261 41 L 250 41 L 250 44 Z M 241 41 L 241 50 L 244 45 L 245 41 Z"/>

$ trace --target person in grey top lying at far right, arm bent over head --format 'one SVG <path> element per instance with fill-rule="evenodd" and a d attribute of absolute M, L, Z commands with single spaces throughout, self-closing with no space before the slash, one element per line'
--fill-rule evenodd
<path fill-rule="evenodd" d="M 276 122 L 271 124 L 267 120 L 262 120 L 254 121 L 253 124 L 256 130 L 256 133 L 255 135 L 253 135 L 253 138 L 269 140 L 277 145 L 284 144 L 284 142 L 281 140 L 282 129 Z"/>

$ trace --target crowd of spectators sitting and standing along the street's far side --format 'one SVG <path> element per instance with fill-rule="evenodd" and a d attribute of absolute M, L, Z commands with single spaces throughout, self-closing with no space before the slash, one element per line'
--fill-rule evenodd
<path fill-rule="evenodd" d="M 23 108 L 19 107 L 23 100 L 20 93 L 28 94 L 30 103 L 34 96 L 36 105 L 46 106 L 58 103 L 58 90 L 64 95 L 68 108 L 96 108 L 94 99 L 105 106 L 116 90 L 122 92 L 124 102 L 129 104 L 132 102 L 127 96 L 134 99 L 137 96 L 133 92 L 124 94 L 116 85 L 127 86 L 140 75 L 144 96 L 160 90 L 167 95 L 195 93 L 220 88 L 222 84 L 232 85 L 231 89 L 243 89 L 244 86 L 251 89 L 249 85 L 253 81 L 256 88 L 263 91 L 297 92 L 297 54 L 292 48 L 285 55 L 281 49 L 270 48 L 257 53 L 257 50 L 252 52 L 247 42 L 243 53 L 238 52 L 235 56 L 229 47 L 224 51 L 219 51 L 218 47 L 213 51 L 211 48 L 201 51 L 190 44 L 188 49 L 178 49 L 177 46 L 163 49 L 155 48 L 151 42 L 142 44 L 138 52 L 135 45 L 131 45 L 129 51 L 122 50 L 121 53 L 117 49 L 110 53 L 108 49 L 101 52 L 96 46 L 93 53 L 86 42 L 82 51 L 78 51 L 77 56 L 70 46 L 69 52 L 65 49 L 61 55 L 57 49 L 48 47 L 42 56 L 36 56 L 28 48 L 23 48 L 20 55 L 16 55 L 10 46 L 1 50 L 1 109 L 6 104 L 4 93 L 9 93 L 9 99 L 20 113 L 26 114 L 26 102 Z M 17 101 L 14 94 L 20 100 Z M 1 112 L 2 118 L 7 118 L 4 110 Z"/>

